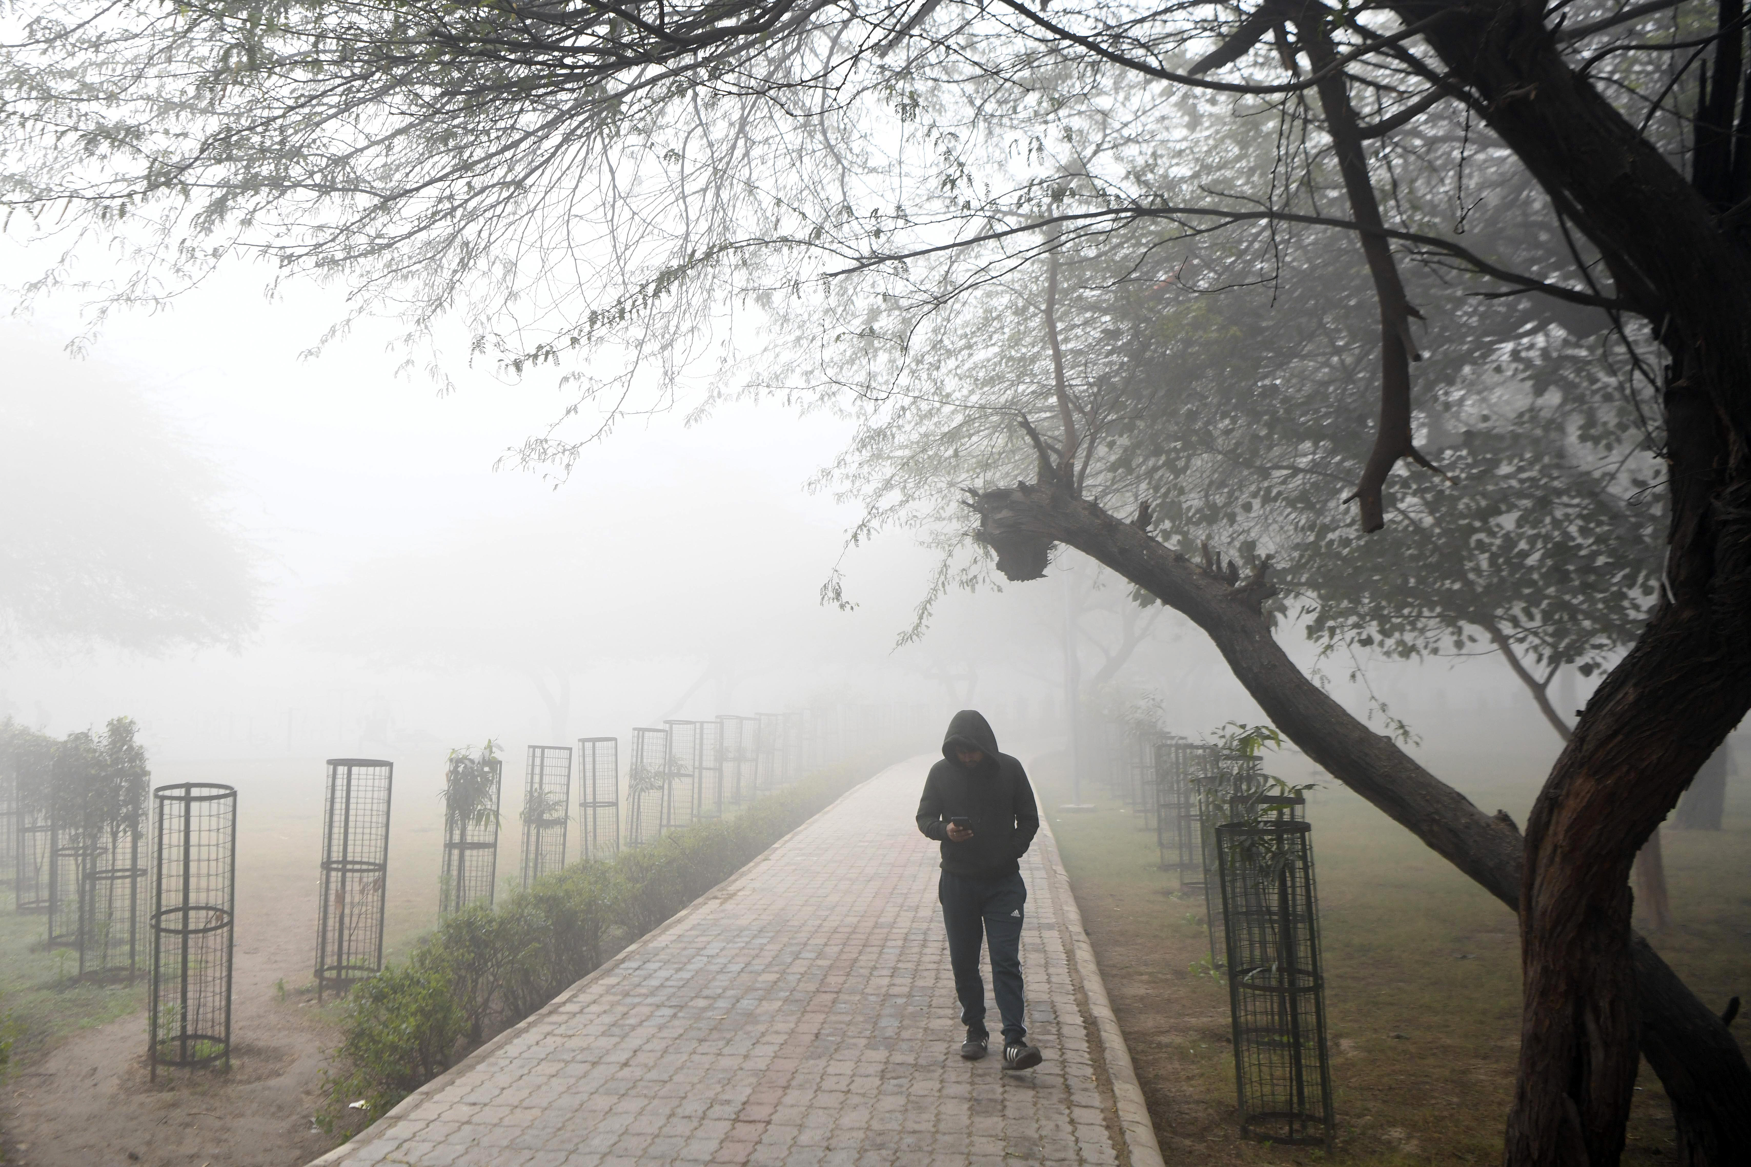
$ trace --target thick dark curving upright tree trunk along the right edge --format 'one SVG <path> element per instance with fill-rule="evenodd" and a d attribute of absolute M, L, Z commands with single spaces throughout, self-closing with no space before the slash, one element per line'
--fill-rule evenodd
<path fill-rule="evenodd" d="M 1443 14 L 1429 44 L 1670 355 L 1669 591 L 1551 770 L 1522 873 L 1508 1164 L 1602 1167 L 1623 1150 L 1635 1078 L 1630 861 L 1751 703 L 1751 255 L 1721 208 L 1569 68 L 1543 5 L 1396 10 Z M 1742 37 L 1737 23 L 1728 31 Z M 1730 77 L 1735 87 L 1737 66 Z M 1751 1113 L 1751 1092 L 1739 1104 Z"/>

